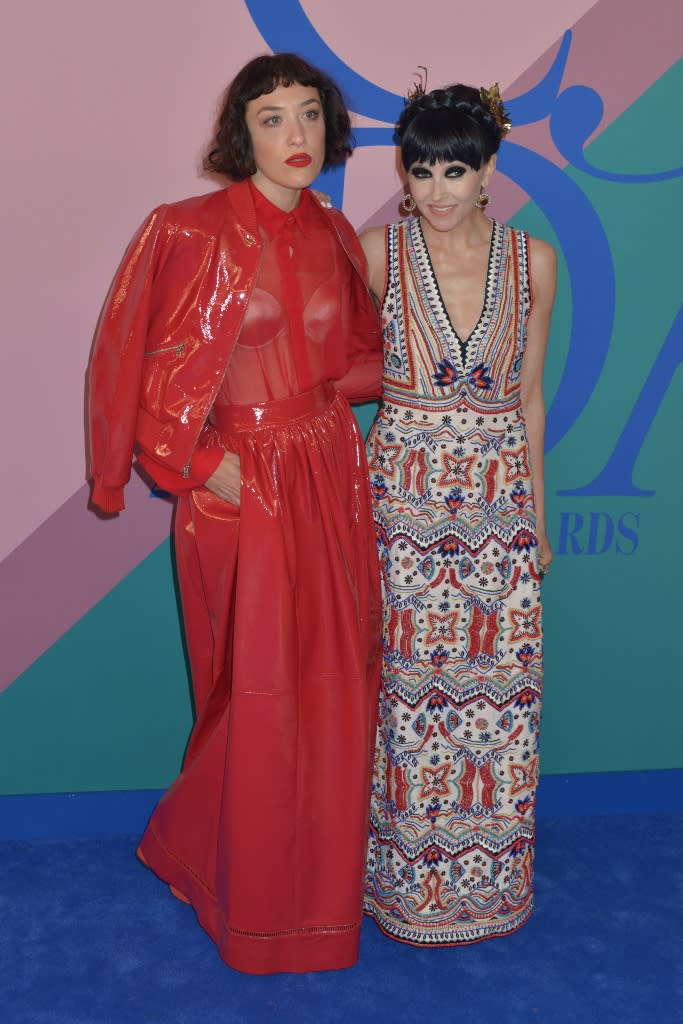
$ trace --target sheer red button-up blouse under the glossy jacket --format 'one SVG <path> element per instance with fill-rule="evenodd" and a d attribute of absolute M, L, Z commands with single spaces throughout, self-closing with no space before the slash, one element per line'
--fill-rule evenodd
<path fill-rule="evenodd" d="M 306 190 L 286 212 L 251 181 L 250 187 L 261 263 L 215 404 L 262 404 L 329 380 L 350 400 L 379 397 L 382 355 L 361 347 L 349 330 L 355 271 L 326 214 Z M 184 494 L 204 483 L 222 457 L 219 446 L 200 446 L 188 477 L 159 467 L 155 479 Z"/>

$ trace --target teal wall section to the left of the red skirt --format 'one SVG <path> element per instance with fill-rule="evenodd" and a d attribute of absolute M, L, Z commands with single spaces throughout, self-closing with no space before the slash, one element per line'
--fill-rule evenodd
<path fill-rule="evenodd" d="M 190 724 L 166 542 L 0 694 L 0 795 L 166 786 Z"/>

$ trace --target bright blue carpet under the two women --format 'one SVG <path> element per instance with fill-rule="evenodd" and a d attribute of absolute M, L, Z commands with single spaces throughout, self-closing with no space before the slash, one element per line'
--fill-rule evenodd
<path fill-rule="evenodd" d="M 1 1024 L 658 1024 L 683 1019 L 683 815 L 545 818 L 517 934 L 421 950 L 371 922 L 350 971 L 225 967 L 135 838 L 0 844 Z"/>

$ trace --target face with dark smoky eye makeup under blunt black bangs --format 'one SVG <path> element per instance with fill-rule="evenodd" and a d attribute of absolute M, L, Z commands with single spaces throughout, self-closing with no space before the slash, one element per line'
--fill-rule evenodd
<path fill-rule="evenodd" d="M 459 160 L 413 164 L 408 183 L 421 216 L 435 230 L 449 231 L 472 215 L 495 169 L 495 156 L 478 171 Z"/>

